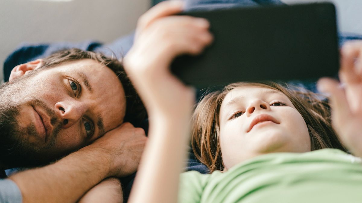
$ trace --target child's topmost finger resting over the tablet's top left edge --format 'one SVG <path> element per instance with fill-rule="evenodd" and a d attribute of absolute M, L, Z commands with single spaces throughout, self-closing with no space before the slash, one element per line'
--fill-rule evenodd
<path fill-rule="evenodd" d="M 139 18 L 138 29 L 144 29 L 144 27 L 150 25 L 150 23 L 157 18 L 180 13 L 183 10 L 183 6 L 184 2 L 181 0 L 163 1 L 155 5 Z"/>

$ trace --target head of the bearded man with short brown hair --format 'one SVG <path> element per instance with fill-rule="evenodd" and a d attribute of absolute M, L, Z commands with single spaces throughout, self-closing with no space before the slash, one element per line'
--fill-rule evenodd
<path fill-rule="evenodd" d="M 0 161 L 9 168 L 84 147 L 122 124 L 126 112 L 126 122 L 145 115 L 122 64 L 80 49 L 16 66 L 0 96 Z"/>

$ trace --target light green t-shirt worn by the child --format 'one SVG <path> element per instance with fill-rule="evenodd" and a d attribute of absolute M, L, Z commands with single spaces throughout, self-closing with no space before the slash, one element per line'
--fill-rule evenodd
<path fill-rule="evenodd" d="M 273 153 L 227 172 L 181 174 L 180 203 L 362 203 L 362 161 L 336 149 Z"/>

